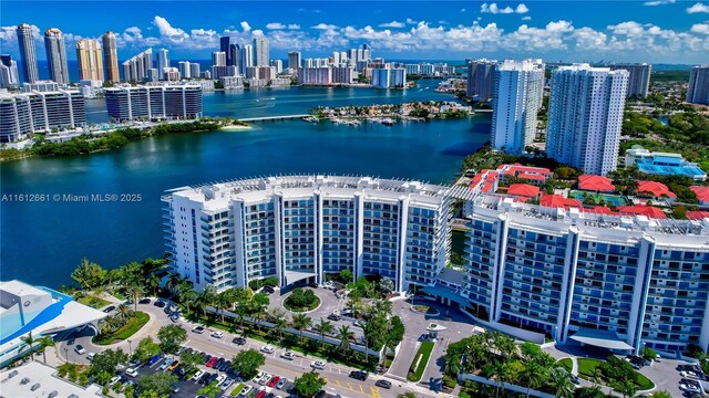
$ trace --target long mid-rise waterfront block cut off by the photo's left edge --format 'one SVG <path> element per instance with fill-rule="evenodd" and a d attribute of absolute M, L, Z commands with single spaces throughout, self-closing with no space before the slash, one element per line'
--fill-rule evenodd
<path fill-rule="evenodd" d="M 82 127 L 86 125 L 84 97 L 78 90 L 0 93 L 0 143 L 53 128 Z"/>

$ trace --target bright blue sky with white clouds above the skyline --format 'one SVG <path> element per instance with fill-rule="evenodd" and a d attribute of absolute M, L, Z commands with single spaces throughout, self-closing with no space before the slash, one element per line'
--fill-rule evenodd
<path fill-rule="evenodd" d="M 18 54 L 14 27 L 59 28 L 68 56 L 81 38 L 112 30 L 126 59 L 153 46 L 208 59 L 218 38 L 265 35 L 271 57 L 327 56 L 369 43 L 390 60 L 543 57 L 547 61 L 709 63 L 709 0 L 647 1 L 1 1 L 0 51 Z"/>

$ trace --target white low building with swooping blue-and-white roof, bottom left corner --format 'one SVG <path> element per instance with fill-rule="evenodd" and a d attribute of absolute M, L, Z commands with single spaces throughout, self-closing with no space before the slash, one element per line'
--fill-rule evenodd
<path fill-rule="evenodd" d="M 7 366 L 29 349 L 22 337 L 30 333 L 40 338 L 85 325 L 96 329 L 96 323 L 107 316 L 68 295 L 20 281 L 0 282 L 0 366 Z M 2 394 L 9 394 L 4 381 Z"/>

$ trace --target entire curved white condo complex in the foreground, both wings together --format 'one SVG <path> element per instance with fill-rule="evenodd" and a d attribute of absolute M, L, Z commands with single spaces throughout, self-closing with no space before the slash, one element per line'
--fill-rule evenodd
<path fill-rule="evenodd" d="M 391 277 L 521 337 L 617 349 L 709 345 L 709 219 L 614 217 L 369 177 L 285 176 L 174 189 L 166 243 L 197 289 Z M 454 222 L 465 264 L 449 262 Z"/>

